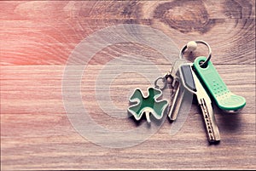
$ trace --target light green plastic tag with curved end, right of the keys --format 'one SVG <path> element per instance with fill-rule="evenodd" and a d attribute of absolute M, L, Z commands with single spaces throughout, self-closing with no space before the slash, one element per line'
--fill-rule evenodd
<path fill-rule="evenodd" d="M 240 111 L 246 105 L 245 98 L 230 92 L 230 89 L 227 88 L 222 78 L 218 75 L 218 71 L 212 65 L 211 61 L 208 61 L 207 67 L 201 67 L 201 62 L 205 60 L 207 58 L 204 56 L 195 59 L 195 71 L 201 77 L 201 82 L 212 95 L 218 107 L 228 112 Z"/>

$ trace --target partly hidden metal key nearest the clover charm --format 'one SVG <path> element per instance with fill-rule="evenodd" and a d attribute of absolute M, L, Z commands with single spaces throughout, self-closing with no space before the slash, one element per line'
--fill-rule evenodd
<path fill-rule="evenodd" d="M 182 104 L 183 100 L 183 95 L 184 95 L 184 88 L 181 87 L 180 82 L 179 82 L 179 76 L 178 76 L 178 69 L 179 66 L 182 64 L 187 63 L 186 60 L 176 60 L 173 67 L 172 71 L 170 71 L 170 75 L 172 77 L 172 101 L 171 101 L 171 108 L 168 113 L 168 117 L 170 117 L 171 121 L 176 120 L 178 111 L 180 109 L 180 106 Z"/>

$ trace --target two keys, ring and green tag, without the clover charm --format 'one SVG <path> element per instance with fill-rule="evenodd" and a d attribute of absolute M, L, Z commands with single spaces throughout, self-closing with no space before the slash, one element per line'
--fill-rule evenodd
<path fill-rule="evenodd" d="M 186 60 L 183 60 L 183 53 L 185 51 L 193 52 L 197 43 L 207 46 L 209 51 L 207 58 L 204 56 L 197 57 L 194 63 L 188 63 Z M 240 111 L 246 105 L 246 100 L 230 92 L 222 78 L 218 75 L 218 71 L 212 66 L 211 56 L 212 50 L 204 41 L 189 42 L 182 48 L 180 60 L 174 63 L 172 71 L 167 74 L 167 76 L 172 77 L 174 92 L 168 117 L 172 121 L 177 119 L 185 92 L 195 94 L 198 105 L 201 108 L 208 141 L 215 143 L 220 140 L 220 135 L 212 111 L 212 100 L 216 102 L 220 109 L 226 112 Z"/>

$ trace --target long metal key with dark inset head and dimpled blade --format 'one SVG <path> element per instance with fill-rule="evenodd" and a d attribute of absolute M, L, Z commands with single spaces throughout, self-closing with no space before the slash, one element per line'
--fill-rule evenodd
<path fill-rule="evenodd" d="M 198 104 L 201 107 L 203 121 L 207 129 L 207 138 L 209 142 L 217 142 L 220 140 L 218 126 L 212 111 L 212 101 L 208 96 L 205 88 L 203 88 L 200 80 L 193 71 L 193 64 L 183 64 L 180 66 L 180 80 L 183 87 L 189 92 L 196 95 Z"/>

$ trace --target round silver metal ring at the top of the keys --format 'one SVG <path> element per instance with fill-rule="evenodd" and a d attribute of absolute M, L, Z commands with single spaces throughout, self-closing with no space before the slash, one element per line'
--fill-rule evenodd
<path fill-rule="evenodd" d="M 205 61 L 204 61 L 203 63 L 201 63 L 201 65 L 200 65 L 202 68 L 206 68 L 207 65 L 208 65 L 208 61 L 211 60 L 211 57 L 212 57 L 212 48 L 210 47 L 210 45 L 209 45 L 208 43 L 206 43 L 205 41 L 203 41 L 203 40 L 191 41 L 191 42 L 189 42 L 189 43 L 201 43 L 201 44 L 204 44 L 204 45 L 207 46 L 207 48 L 208 48 L 207 60 L 205 60 Z M 186 45 L 184 45 L 183 48 L 181 49 L 181 51 L 180 51 L 180 53 L 179 53 L 179 58 L 180 58 L 180 59 L 183 59 L 183 53 L 184 53 L 184 51 L 185 51 L 186 49 L 188 49 L 188 44 L 189 44 L 189 43 L 187 43 Z M 193 48 L 193 49 L 191 49 L 191 51 L 194 51 L 195 48 L 196 48 L 196 44 L 195 44 L 193 47 L 189 47 L 189 48 Z"/>

